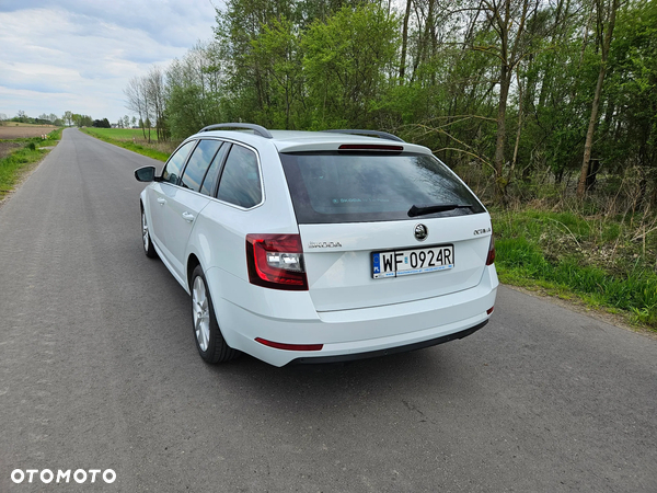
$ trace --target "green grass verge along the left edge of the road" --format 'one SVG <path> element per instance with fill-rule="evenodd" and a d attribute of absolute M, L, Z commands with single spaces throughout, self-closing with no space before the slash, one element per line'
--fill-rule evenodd
<path fill-rule="evenodd" d="M 61 128 L 50 131 L 46 139 L 33 137 L 30 139 L 14 139 L 12 142 L 23 144 L 9 156 L 0 159 L 0 198 L 10 192 L 19 181 L 22 172 L 32 163 L 41 161 L 48 149 L 42 147 L 56 146 L 61 138 Z"/>

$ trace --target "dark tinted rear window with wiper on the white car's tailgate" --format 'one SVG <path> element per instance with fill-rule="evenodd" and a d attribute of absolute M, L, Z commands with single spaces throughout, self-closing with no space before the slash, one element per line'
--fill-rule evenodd
<path fill-rule="evenodd" d="M 428 205 L 460 207 L 422 217 L 480 214 L 470 190 L 433 156 L 381 152 L 280 154 L 299 223 L 416 219 Z"/>

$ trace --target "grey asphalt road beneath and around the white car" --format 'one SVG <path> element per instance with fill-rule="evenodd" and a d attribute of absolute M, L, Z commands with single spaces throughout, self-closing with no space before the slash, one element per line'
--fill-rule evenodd
<path fill-rule="evenodd" d="M 204 364 L 149 162 L 68 129 L 0 208 L 0 492 L 657 492 L 657 341 L 508 288 L 415 353 Z"/>

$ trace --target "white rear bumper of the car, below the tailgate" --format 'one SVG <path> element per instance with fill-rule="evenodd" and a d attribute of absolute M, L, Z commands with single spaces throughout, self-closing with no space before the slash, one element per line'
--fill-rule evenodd
<path fill-rule="evenodd" d="M 206 273 L 226 342 L 274 366 L 360 359 L 413 351 L 461 339 L 488 321 L 495 305 L 495 267 L 473 288 L 446 296 L 382 307 L 316 312 L 307 291 L 276 291 Z M 223 278 L 222 278 L 223 277 Z M 215 287 L 228 286 L 229 290 Z M 322 345 L 321 351 L 265 346 L 256 337 L 283 344 Z"/>

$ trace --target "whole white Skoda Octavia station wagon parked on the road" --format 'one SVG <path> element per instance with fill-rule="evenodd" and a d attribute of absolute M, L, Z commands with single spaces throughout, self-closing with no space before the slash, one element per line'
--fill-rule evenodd
<path fill-rule="evenodd" d="M 484 326 L 491 217 L 431 152 L 372 130 L 220 124 L 135 176 L 143 249 L 192 296 L 198 352 L 344 362 Z"/>

